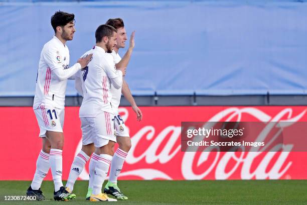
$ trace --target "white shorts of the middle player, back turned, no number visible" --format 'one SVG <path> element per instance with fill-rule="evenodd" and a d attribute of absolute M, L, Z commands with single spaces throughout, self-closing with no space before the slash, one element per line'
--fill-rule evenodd
<path fill-rule="evenodd" d="M 114 115 L 101 111 L 96 117 L 83 117 L 81 120 L 82 144 L 94 143 L 95 147 L 102 147 L 109 140 L 116 142 L 114 135 Z"/>

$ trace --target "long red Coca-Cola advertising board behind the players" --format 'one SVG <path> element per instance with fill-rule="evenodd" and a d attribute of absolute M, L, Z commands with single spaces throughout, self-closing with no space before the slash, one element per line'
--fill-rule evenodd
<path fill-rule="evenodd" d="M 307 152 L 182 152 L 181 122 L 306 122 L 307 107 L 129 107 L 120 114 L 132 141 L 119 179 L 307 179 Z M 65 109 L 63 179 L 81 148 L 78 107 Z M 0 108 L 0 180 L 32 180 L 41 150 L 32 108 Z M 307 146 L 307 145 L 306 145 Z M 51 173 L 46 179 L 51 180 Z M 88 164 L 80 179 L 88 179 Z"/>

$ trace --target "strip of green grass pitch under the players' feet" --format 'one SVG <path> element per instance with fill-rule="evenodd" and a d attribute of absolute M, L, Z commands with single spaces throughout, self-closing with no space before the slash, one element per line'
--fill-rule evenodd
<path fill-rule="evenodd" d="M 0 204 L 108 203 L 85 200 L 88 181 L 76 182 L 73 201 L 54 201 L 52 181 L 42 185 L 49 201 L 5 200 L 5 195 L 25 195 L 30 183 L 0 181 Z M 119 181 L 118 185 L 129 199 L 112 202 L 116 204 L 307 204 L 307 180 Z"/>

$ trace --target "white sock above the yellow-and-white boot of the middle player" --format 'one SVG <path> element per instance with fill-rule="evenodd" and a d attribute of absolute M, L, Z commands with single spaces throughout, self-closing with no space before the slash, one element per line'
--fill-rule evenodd
<path fill-rule="evenodd" d="M 93 194 L 101 193 L 102 183 L 106 178 L 112 160 L 111 155 L 100 154 L 95 166 L 95 177 L 93 181 Z"/>

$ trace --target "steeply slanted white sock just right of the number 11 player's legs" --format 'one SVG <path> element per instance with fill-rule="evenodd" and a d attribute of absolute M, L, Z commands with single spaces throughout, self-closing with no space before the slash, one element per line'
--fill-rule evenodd
<path fill-rule="evenodd" d="M 74 189 L 74 184 L 79 175 L 81 174 L 81 172 L 83 171 L 83 168 L 88 159 L 89 156 L 87 156 L 82 150 L 75 157 L 71 165 L 69 176 L 66 183 L 66 186 L 70 188 L 71 191 Z"/>

